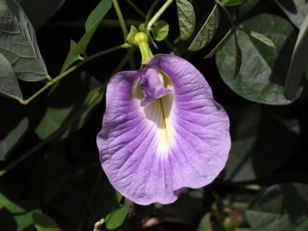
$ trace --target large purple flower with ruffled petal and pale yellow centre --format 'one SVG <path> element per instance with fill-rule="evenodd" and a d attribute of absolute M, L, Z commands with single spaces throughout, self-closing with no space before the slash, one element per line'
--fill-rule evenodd
<path fill-rule="evenodd" d="M 123 196 L 168 204 L 181 188 L 218 176 L 230 149 L 229 119 L 186 60 L 158 54 L 144 67 L 110 80 L 97 144 L 102 167 Z"/>

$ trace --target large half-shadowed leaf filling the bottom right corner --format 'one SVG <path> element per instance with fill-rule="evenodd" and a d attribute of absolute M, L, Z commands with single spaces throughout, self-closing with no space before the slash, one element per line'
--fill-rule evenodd
<path fill-rule="evenodd" d="M 254 231 L 308 230 L 308 185 L 284 183 L 262 191 L 246 211 Z"/>

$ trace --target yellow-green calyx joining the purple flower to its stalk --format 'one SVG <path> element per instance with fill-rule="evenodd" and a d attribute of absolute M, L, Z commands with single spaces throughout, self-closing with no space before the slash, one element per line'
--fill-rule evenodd
<path fill-rule="evenodd" d="M 133 38 L 133 43 L 139 47 L 141 52 L 141 64 L 148 63 L 152 59 L 153 54 L 149 46 L 149 38 L 147 34 L 144 32 L 136 33 Z"/>

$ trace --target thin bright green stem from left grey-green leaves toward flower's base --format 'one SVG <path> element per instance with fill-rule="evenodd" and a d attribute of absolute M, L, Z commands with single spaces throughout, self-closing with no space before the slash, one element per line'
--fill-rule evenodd
<path fill-rule="evenodd" d="M 33 99 L 35 99 L 37 97 L 37 95 L 40 95 L 42 92 L 44 92 L 47 88 L 49 88 L 50 86 L 52 86 L 54 83 L 60 81 L 62 78 L 64 78 L 66 75 L 68 75 L 69 73 L 71 73 L 72 71 L 78 69 L 80 66 L 84 65 L 85 63 L 95 59 L 96 57 L 99 57 L 101 55 L 104 55 L 104 54 L 107 54 L 107 53 L 110 53 L 112 51 L 116 51 L 116 50 L 119 50 L 119 49 L 123 49 L 123 48 L 130 48 L 131 45 L 130 44 L 122 44 L 120 46 L 116 46 L 116 47 L 112 47 L 110 49 L 107 49 L 107 50 L 103 50 L 101 52 L 98 52 L 98 53 L 95 53 L 95 54 L 92 54 L 88 57 L 86 57 L 83 61 L 81 61 L 80 63 L 72 66 L 71 68 L 69 68 L 68 70 L 64 71 L 63 73 L 61 73 L 60 75 L 58 75 L 56 78 L 54 79 L 51 79 L 51 81 L 49 81 L 44 87 L 42 87 L 40 90 L 36 91 L 29 99 L 27 100 L 19 100 L 21 104 L 28 104 L 30 103 Z"/>

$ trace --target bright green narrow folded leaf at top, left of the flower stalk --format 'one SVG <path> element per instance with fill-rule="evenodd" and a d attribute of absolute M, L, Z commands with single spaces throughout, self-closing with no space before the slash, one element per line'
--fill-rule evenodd
<path fill-rule="evenodd" d="M 87 46 L 104 16 L 111 8 L 111 0 L 101 0 L 99 5 L 90 13 L 87 18 L 85 29 L 86 33 L 82 36 L 81 40 L 71 51 L 71 54 L 85 54 Z"/>

